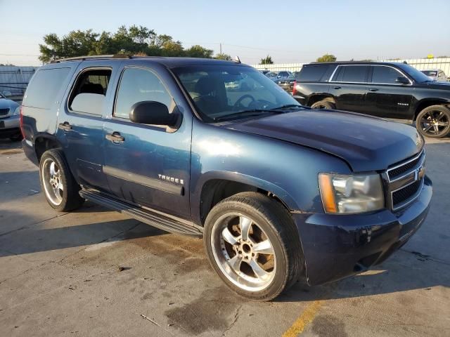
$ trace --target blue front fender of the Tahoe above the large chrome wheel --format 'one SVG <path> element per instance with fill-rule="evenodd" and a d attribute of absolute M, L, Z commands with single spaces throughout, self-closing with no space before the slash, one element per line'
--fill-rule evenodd
<path fill-rule="evenodd" d="M 193 122 L 192 139 L 191 216 L 198 223 L 201 193 L 212 179 L 271 192 L 291 211 L 323 213 L 319 173 L 351 172 L 345 161 L 320 150 L 200 121 Z"/>

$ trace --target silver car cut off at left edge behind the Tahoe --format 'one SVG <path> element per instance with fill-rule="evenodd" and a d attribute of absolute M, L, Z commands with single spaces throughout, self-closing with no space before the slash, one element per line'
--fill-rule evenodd
<path fill-rule="evenodd" d="M 0 93 L 0 138 L 22 139 L 20 105 Z"/>

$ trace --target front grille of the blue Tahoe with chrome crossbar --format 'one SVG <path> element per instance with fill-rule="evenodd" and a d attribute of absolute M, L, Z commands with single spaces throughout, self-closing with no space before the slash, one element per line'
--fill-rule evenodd
<path fill-rule="evenodd" d="M 387 169 L 392 210 L 411 203 L 422 190 L 425 178 L 425 151 Z"/>

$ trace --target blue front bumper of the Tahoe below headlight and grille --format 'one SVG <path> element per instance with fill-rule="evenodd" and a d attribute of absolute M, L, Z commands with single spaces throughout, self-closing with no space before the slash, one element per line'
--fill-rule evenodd
<path fill-rule="evenodd" d="M 383 262 L 403 246 L 428 214 L 432 183 L 425 177 L 419 197 L 396 213 L 333 215 L 293 213 L 310 285 L 342 279 Z"/>

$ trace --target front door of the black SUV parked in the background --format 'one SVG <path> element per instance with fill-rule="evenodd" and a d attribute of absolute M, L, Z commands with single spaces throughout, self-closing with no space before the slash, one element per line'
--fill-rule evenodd
<path fill-rule="evenodd" d="M 411 119 L 412 82 L 400 84 L 397 78 L 406 77 L 389 65 L 372 65 L 366 95 L 368 114 L 378 117 Z"/>

